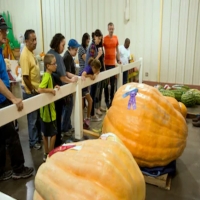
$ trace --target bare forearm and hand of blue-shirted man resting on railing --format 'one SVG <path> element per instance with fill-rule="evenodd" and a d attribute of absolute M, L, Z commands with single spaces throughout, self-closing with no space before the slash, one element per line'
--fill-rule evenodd
<path fill-rule="evenodd" d="M 0 93 L 17 106 L 18 111 L 23 109 L 22 99 L 15 97 L 0 79 Z"/>

